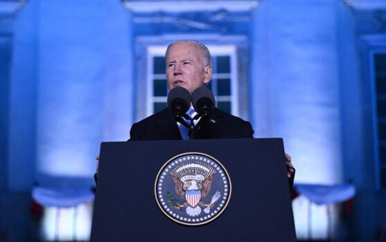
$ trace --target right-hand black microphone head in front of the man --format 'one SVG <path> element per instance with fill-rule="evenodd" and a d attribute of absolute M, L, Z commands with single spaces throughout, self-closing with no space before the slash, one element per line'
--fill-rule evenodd
<path fill-rule="evenodd" d="M 214 95 L 206 87 L 200 87 L 193 91 L 192 102 L 195 111 L 204 117 L 209 117 L 215 106 Z"/>

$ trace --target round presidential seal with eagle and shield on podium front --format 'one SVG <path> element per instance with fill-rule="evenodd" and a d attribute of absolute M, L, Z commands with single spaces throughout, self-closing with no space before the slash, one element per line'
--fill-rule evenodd
<path fill-rule="evenodd" d="M 204 153 L 182 153 L 159 170 L 155 198 L 171 220 L 203 225 L 224 212 L 231 198 L 231 180 L 215 158 Z"/>

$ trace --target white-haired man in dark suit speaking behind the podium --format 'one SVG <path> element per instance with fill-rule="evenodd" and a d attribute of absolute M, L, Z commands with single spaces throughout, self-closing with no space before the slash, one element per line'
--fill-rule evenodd
<path fill-rule="evenodd" d="M 168 88 L 181 86 L 193 93 L 211 80 L 211 54 L 198 41 L 180 40 L 170 44 L 166 50 L 166 79 Z M 203 122 L 196 139 L 253 138 L 253 129 L 234 115 L 214 109 L 211 118 Z M 179 124 L 169 109 L 164 109 L 132 125 L 130 140 L 182 140 Z M 286 154 L 286 165 L 292 187 L 295 169 Z"/>

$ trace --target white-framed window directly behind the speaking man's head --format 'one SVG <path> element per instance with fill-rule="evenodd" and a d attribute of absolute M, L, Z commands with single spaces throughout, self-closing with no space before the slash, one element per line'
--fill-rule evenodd
<path fill-rule="evenodd" d="M 148 47 L 147 115 L 164 109 L 167 104 L 165 52 L 167 46 Z M 235 46 L 208 46 L 211 51 L 213 74 L 208 88 L 213 91 L 218 109 L 238 115 Z"/>

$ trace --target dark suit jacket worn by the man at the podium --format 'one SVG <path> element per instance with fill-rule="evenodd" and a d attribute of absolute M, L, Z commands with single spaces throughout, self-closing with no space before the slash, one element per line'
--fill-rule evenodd
<path fill-rule="evenodd" d="M 201 124 L 195 139 L 253 138 L 249 122 L 214 109 L 211 118 Z M 132 125 L 130 140 L 182 140 L 169 109 L 164 109 Z"/>

